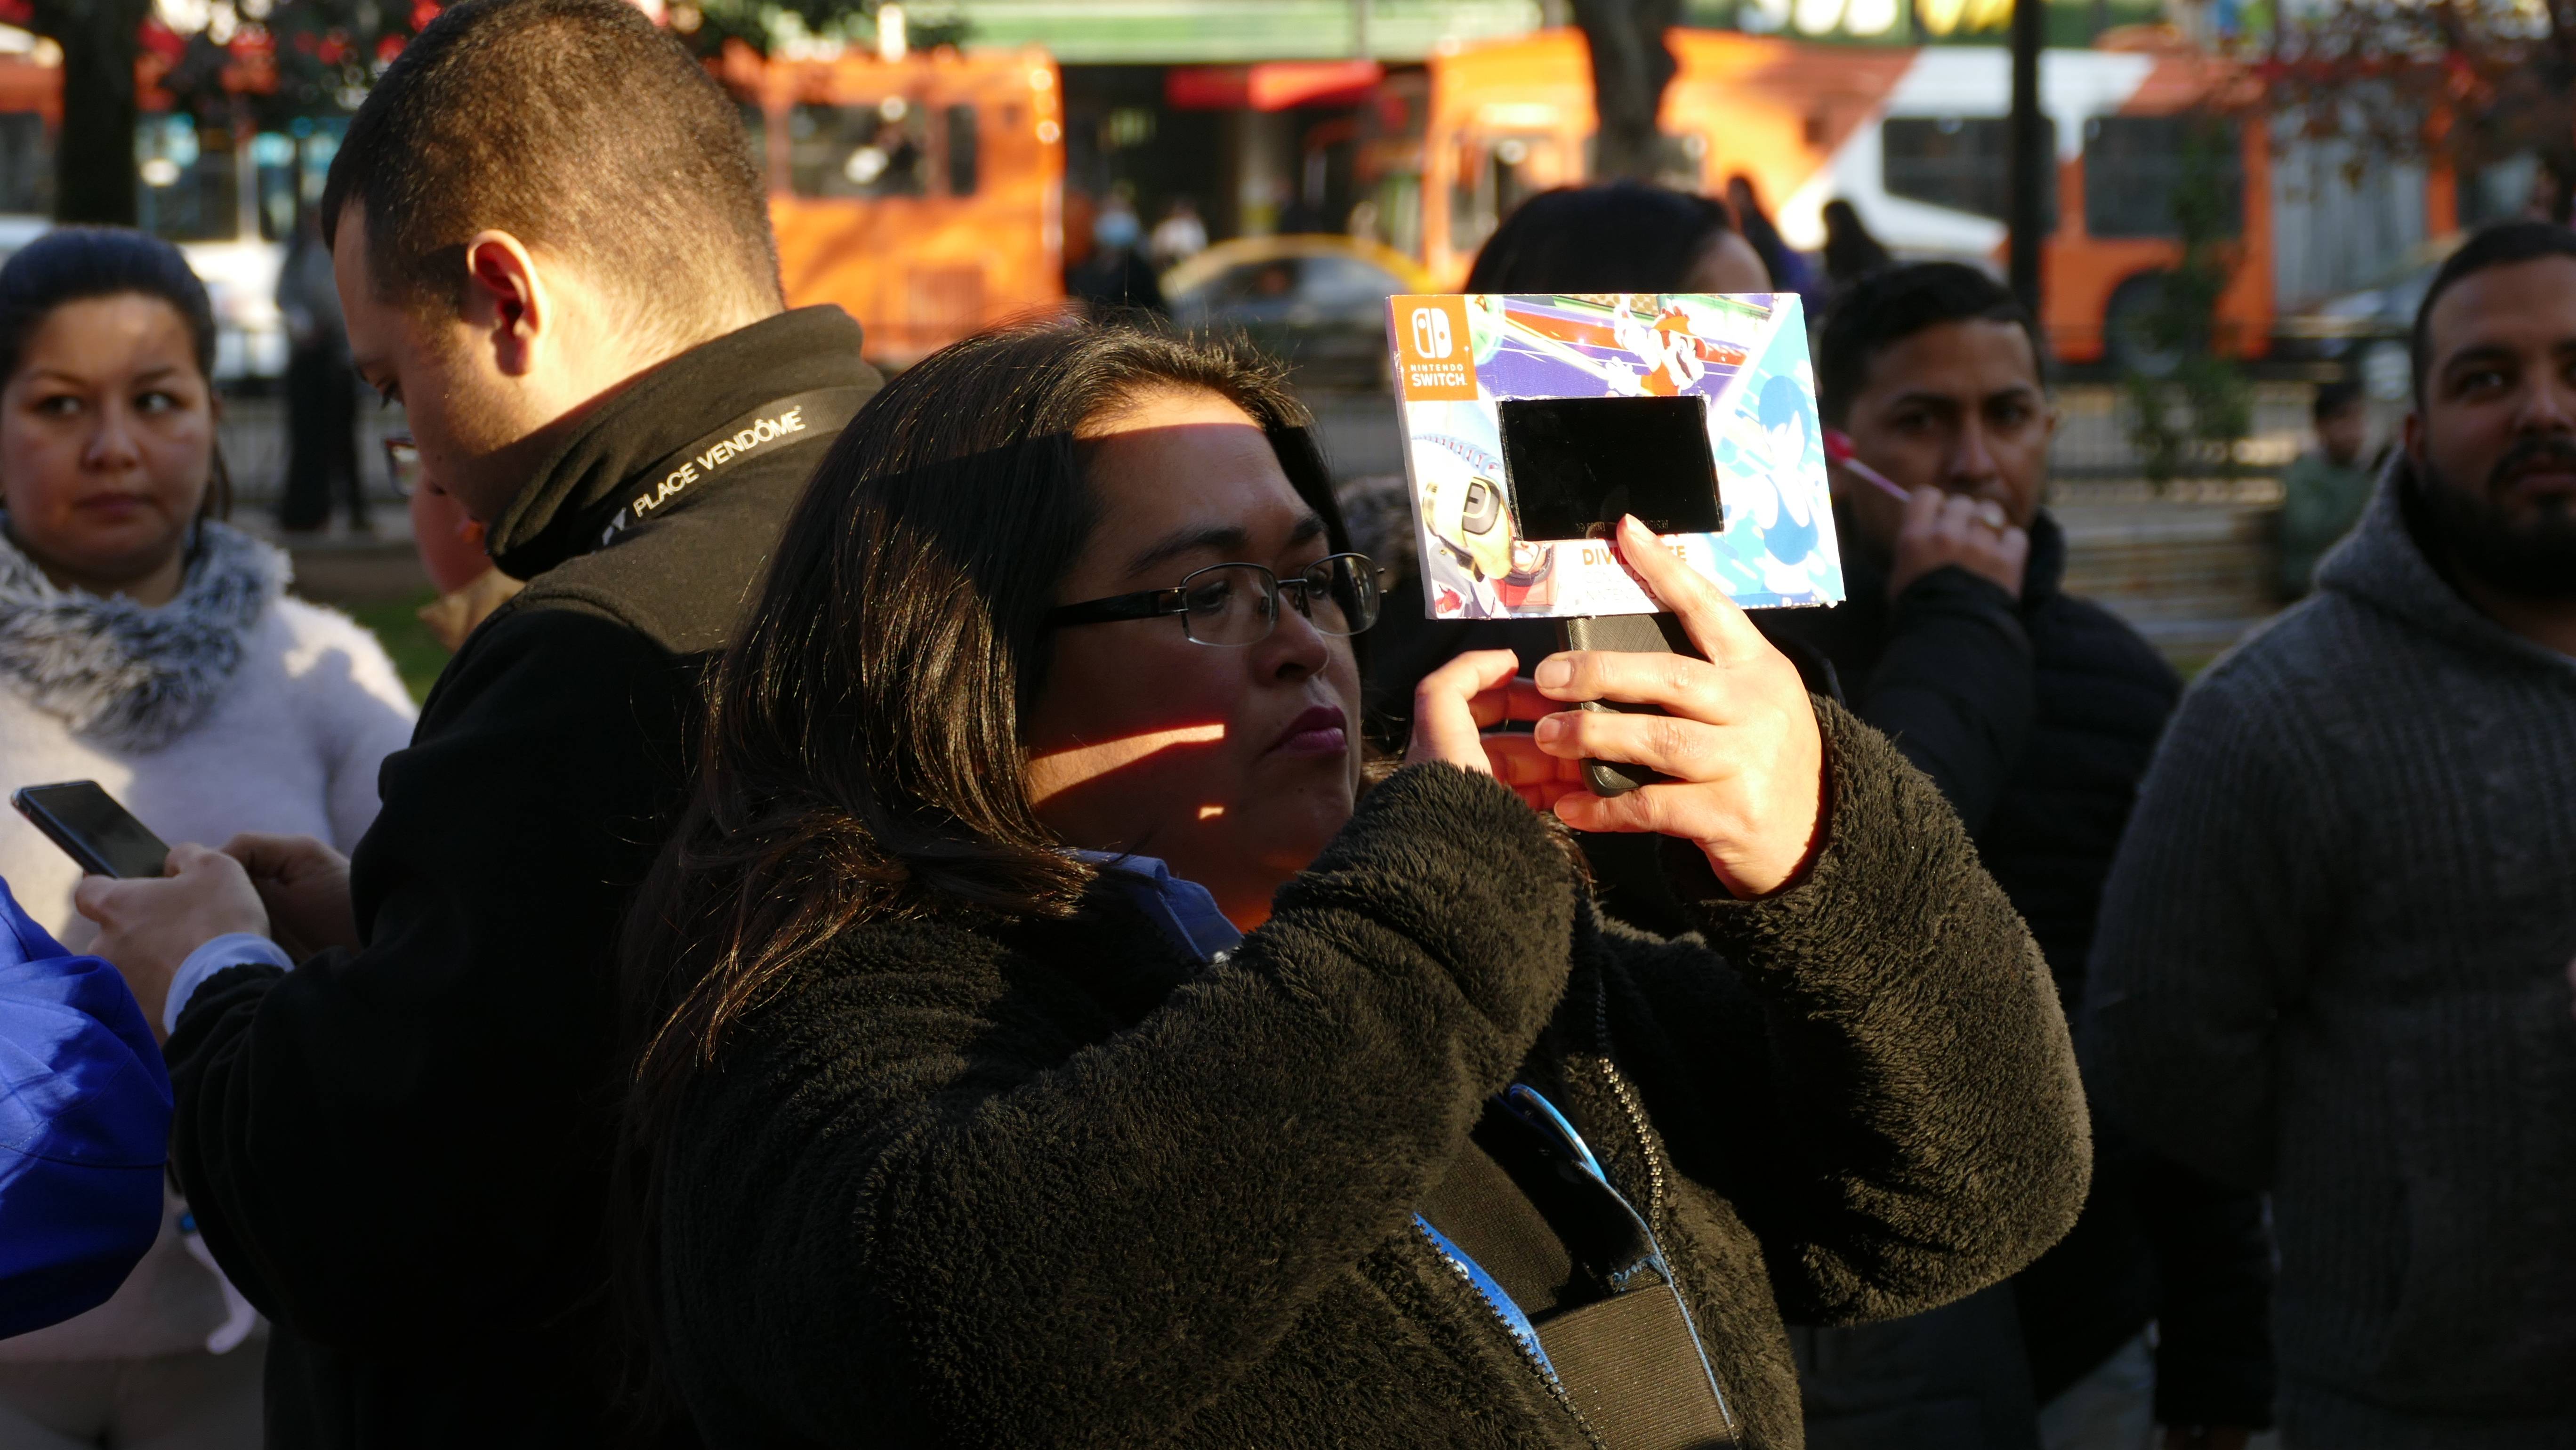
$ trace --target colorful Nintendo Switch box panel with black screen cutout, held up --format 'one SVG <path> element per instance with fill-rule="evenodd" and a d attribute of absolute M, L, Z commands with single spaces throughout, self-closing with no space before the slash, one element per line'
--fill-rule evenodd
<path fill-rule="evenodd" d="M 1620 513 L 1744 608 L 1842 603 L 1795 294 L 1386 309 L 1432 618 L 1654 613 Z"/>

